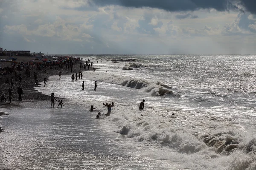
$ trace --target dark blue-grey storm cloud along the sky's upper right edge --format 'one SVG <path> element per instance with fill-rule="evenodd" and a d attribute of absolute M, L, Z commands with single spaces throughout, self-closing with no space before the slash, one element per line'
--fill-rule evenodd
<path fill-rule="evenodd" d="M 90 2 L 99 6 L 150 7 L 164 9 L 166 11 L 195 11 L 210 8 L 218 11 L 228 11 L 238 9 L 237 4 L 240 4 L 247 11 L 256 14 L 255 0 L 91 0 Z"/>

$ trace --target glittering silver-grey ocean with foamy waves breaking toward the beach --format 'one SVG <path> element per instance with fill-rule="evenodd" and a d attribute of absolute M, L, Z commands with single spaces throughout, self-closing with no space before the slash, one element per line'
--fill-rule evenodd
<path fill-rule="evenodd" d="M 64 98 L 1 109 L 2 164 L 35 170 L 255 170 L 255 55 L 72 55 L 93 70 L 49 77 Z M 84 81 L 84 91 L 82 82 Z M 94 91 L 94 82 L 97 90 Z M 145 99 L 145 109 L 139 105 Z M 114 102 L 111 115 L 104 102 Z M 96 111 L 89 112 L 90 106 Z M 5 158 L 3 159 L 3 157 Z"/>

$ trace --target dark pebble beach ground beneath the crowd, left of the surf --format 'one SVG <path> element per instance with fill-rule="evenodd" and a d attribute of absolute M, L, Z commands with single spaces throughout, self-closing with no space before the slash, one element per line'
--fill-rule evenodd
<path fill-rule="evenodd" d="M 3 57 L 4 59 L 6 59 L 6 56 L 0 56 L 0 59 L 3 59 Z M 35 58 L 17 56 L 17 59 L 18 59 L 17 62 L 29 62 L 29 60 L 31 61 L 32 59 L 35 59 Z M 42 62 L 41 60 L 35 60 L 35 61 Z M 22 108 L 22 106 L 19 104 L 20 102 L 33 102 L 33 101 L 50 102 L 51 93 L 49 93 L 49 95 L 45 95 L 34 89 L 35 87 L 38 86 L 36 85 L 35 80 L 33 78 L 34 72 L 37 73 L 38 81 L 42 82 L 45 77 L 48 80 L 50 76 L 58 75 L 60 71 L 61 71 L 61 75 L 76 74 L 76 73 L 79 73 L 80 71 L 81 72 L 88 71 L 83 67 L 80 69 L 80 62 L 82 62 L 82 65 L 84 65 L 85 60 L 73 61 L 72 73 L 70 69 L 66 69 L 65 66 L 63 68 L 60 68 L 57 66 L 56 70 L 54 68 L 50 69 L 49 67 L 43 68 L 42 70 L 37 70 L 34 68 L 31 70 L 31 74 L 30 74 L 31 77 L 26 76 L 24 69 L 22 71 L 19 71 L 19 74 L 21 74 L 21 77 L 22 77 L 22 82 L 21 84 L 19 84 L 19 82 L 15 81 L 15 79 L 13 78 L 14 85 L 12 87 L 12 104 L 8 103 L 8 89 L 11 88 L 11 84 L 5 83 L 5 81 L 7 78 L 11 79 L 11 77 L 15 77 L 14 73 L 0 76 L 0 91 L 1 91 L 1 94 L 5 94 L 6 96 L 6 102 L 0 102 L 0 108 Z M 3 62 L 1 62 L 0 64 L 2 63 Z M 11 66 L 11 64 L 12 62 L 5 62 L 4 66 L 5 67 Z M 45 70 L 46 70 L 46 73 L 44 73 Z M 93 69 L 90 67 L 89 71 L 93 71 Z M 20 87 L 23 89 L 22 101 L 18 101 L 17 87 Z"/>

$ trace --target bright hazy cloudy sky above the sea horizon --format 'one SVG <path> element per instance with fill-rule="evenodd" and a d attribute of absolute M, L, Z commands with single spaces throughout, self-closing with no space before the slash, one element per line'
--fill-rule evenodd
<path fill-rule="evenodd" d="M 0 47 L 46 54 L 256 54 L 256 1 L 0 0 Z"/>

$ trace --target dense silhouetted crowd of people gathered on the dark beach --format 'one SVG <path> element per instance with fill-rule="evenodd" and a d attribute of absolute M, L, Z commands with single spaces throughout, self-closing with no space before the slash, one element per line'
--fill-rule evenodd
<path fill-rule="evenodd" d="M 33 57 L 17 57 L 17 61 L 1 62 L 0 63 L 0 101 L 11 103 L 12 99 L 16 98 L 21 101 L 23 89 L 33 90 L 39 82 L 44 80 L 50 75 L 57 73 L 70 74 L 73 71 L 78 71 L 79 68 L 73 69 L 74 65 L 78 65 L 82 59 L 80 57 L 50 57 L 48 59 L 32 60 Z M 18 62 L 20 60 L 20 62 Z M 52 60 L 52 61 L 51 61 Z M 66 69 L 65 69 L 66 68 Z M 60 71 L 61 70 L 61 71 Z M 33 73 L 32 73 L 33 72 Z M 32 73 L 32 74 L 31 74 Z M 17 94 L 14 93 L 14 88 L 17 89 Z M 16 91 L 16 90 L 15 90 Z M 20 92 L 22 91 L 22 93 Z M 31 93 L 31 92 L 30 92 Z M 46 99 L 43 94 L 26 95 L 26 99 L 35 100 Z"/>

